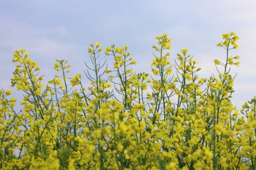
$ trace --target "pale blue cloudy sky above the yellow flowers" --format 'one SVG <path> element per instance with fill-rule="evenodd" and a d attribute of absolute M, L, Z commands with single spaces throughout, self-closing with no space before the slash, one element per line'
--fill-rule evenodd
<path fill-rule="evenodd" d="M 0 0 L 0 88 L 10 87 L 13 52 L 20 48 L 46 79 L 54 77 L 56 59 L 69 60 L 72 74 L 82 73 L 94 42 L 129 45 L 134 69 L 150 73 L 152 45 L 162 33 L 172 38 L 171 58 L 188 48 L 203 68 L 199 75 L 207 78 L 216 73 L 213 60 L 225 58 L 216 44 L 230 31 L 240 37 L 232 52 L 241 56 L 241 67 L 233 68 L 238 74 L 232 101 L 239 107 L 256 95 L 256 0 Z"/>

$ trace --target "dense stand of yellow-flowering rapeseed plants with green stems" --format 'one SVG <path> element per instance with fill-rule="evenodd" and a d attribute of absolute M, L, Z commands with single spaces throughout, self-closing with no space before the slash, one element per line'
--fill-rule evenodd
<path fill-rule="evenodd" d="M 12 92 L 0 91 L 1 169 L 255 169 L 256 98 L 232 105 L 238 36 L 223 34 L 226 50 L 214 60 L 218 76 L 199 78 L 187 49 L 170 62 L 170 38 L 156 36 L 152 75 L 133 72 L 128 46 L 109 46 L 111 69 L 101 64 L 101 44 L 90 44 L 85 78 L 57 74 L 42 83 L 26 50 L 15 51 L 12 87 L 23 91 L 17 112 Z M 88 84 L 88 83 L 86 83 Z"/>

